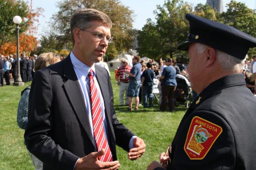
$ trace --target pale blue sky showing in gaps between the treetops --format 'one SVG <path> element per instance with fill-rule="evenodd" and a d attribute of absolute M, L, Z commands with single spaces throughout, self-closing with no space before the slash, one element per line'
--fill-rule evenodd
<path fill-rule="evenodd" d="M 30 0 L 26 0 L 29 1 Z M 45 11 L 43 13 L 44 17 L 40 17 L 40 23 L 38 25 L 38 35 L 40 38 L 41 35 L 44 35 L 48 30 L 47 22 L 50 20 L 52 15 L 58 11 L 56 7 L 57 2 L 60 0 L 33 0 L 33 8 L 42 7 Z M 156 9 L 156 5 L 163 5 L 164 0 L 120 0 L 121 3 L 125 6 L 128 6 L 131 10 L 134 11 L 136 18 L 133 23 L 134 28 L 141 30 L 143 25 L 146 24 L 148 18 L 155 19 L 153 11 Z M 205 4 L 206 0 L 184 0 L 195 6 L 198 3 Z M 225 11 L 225 4 L 229 3 L 230 0 L 222 0 L 223 8 Z M 236 0 L 239 2 L 245 3 L 249 8 L 256 8 L 256 0 Z"/>

